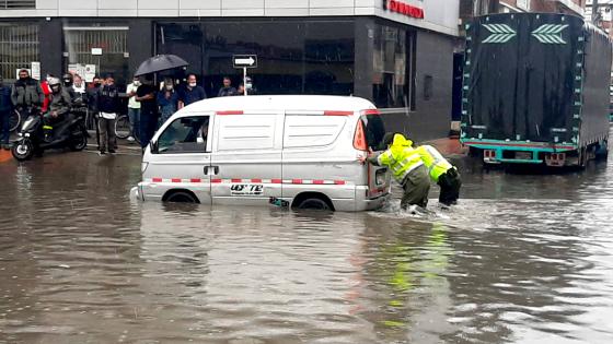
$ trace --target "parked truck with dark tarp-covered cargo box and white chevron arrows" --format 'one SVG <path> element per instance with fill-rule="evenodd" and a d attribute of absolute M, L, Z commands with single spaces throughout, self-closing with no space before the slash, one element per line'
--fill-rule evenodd
<path fill-rule="evenodd" d="M 505 13 L 466 25 L 461 142 L 487 164 L 586 166 L 609 141 L 612 43 L 583 19 Z"/>

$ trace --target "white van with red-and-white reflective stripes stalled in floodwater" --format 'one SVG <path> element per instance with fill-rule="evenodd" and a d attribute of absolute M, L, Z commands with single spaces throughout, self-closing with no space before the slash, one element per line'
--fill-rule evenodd
<path fill-rule="evenodd" d="M 360 164 L 385 129 L 370 102 L 340 96 L 234 96 L 173 115 L 142 157 L 142 201 L 363 211 L 390 191 L 386 168 Z M 280 201 L 279 201 L 280 202 Z"/>

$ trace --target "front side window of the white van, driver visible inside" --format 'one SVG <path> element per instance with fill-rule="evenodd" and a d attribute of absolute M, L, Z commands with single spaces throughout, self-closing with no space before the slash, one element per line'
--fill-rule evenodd
<path fill-rule="evenodd" d="M 158 153 L 206 153 L 209 120 L 209 116 L 175 119 L 160 135 Z"/>

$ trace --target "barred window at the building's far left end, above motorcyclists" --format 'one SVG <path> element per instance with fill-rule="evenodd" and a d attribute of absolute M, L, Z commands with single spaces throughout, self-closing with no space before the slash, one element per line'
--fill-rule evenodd
<path fill-rule="evenodd" d="M 7 81 L 16 79 L 19 69 L 31 69 L 41 61 L 38 25 L 0 24 L 0 69 Z"/>

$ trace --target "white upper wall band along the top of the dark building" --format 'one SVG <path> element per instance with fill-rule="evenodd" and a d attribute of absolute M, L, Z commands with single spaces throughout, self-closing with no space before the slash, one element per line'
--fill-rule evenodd
<path fill-rule="evenodd" d="M 385 11 L 383 0 L 36 0 L 36 10 L 0 10 L 0 17 L 378 15 L 458 35 L 460 0 L 401 1 L 423 8 L 425 19 Z"/>

